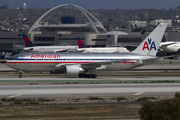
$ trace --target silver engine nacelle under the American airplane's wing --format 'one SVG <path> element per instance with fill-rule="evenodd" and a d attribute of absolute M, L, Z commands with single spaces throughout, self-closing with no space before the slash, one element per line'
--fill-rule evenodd
<path fill-rule="evenodd" d="M 65 74 L 67 75 L 78 75 L 83 69 L 80 65 L 69 65 L 65 67 Z"/>

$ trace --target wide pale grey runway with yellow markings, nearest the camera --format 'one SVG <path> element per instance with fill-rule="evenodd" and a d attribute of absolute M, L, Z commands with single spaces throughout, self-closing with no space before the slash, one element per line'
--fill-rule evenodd
<path fill-rule="evenodd" d="M 1 85 L 0 98 L 173 95 L 177 91 L 180 83 Z"/>

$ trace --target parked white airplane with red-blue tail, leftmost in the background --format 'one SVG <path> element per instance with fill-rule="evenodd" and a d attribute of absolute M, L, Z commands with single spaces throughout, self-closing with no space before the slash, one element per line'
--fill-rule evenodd
<path fill-rule="evenodd" d="M 35 46 L 25 34 L 22 34 L 22 36 L 26 45 L 23 48 L 25 52 L 66 52 L 78 48 L 78 46 Z"/>

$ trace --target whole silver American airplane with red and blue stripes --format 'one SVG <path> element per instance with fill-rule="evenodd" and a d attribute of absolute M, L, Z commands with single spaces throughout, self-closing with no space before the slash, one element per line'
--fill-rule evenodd
<path fill-rule="evenodd" d="M 20 78 L 23 71 L 50 71 L 78 75 L 79 78 L 96 78 L 97 70 L 119 71 L 162 61 L 167 56 L 156 57 L 156 53 L 166 27 L 167 23 L 160 23 L 129 53 L 21 53 L 7 60 L 6 65 L 19 70 Z"/>

